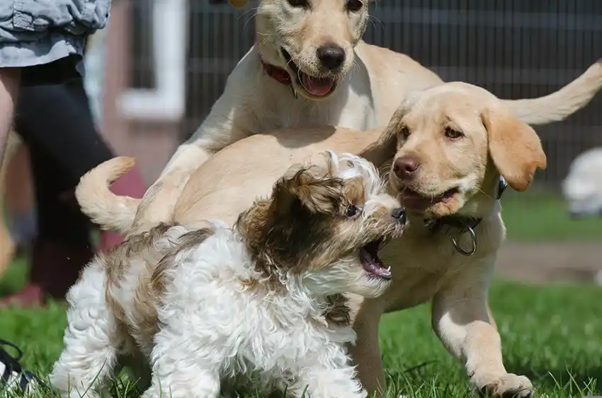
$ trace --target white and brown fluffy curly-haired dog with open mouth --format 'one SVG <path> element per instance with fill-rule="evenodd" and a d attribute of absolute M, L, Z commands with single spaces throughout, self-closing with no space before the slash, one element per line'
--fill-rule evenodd
<path fill-rule="evenodd" d="M 144 397 L 217 397 L 241 383 L 365 397 L 342 293 L 385 292 L 377 250 L 401 235 L 405 212 L 367 160 L 323 159 L 290 168 L 233 228 L 163 224 L 97 257 L 69 291 L 52 385 L 93 395 L 118 365 L 144 358 Z"/>

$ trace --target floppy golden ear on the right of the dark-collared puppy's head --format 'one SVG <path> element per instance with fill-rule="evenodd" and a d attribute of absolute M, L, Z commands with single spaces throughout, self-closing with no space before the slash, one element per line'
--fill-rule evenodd
<path fill-rule="evenodd" d="M 546 158 L 535 130 L 506 109 L 486 109 L 481 120 L 489 136 L 489 156 L 508 185 L 526 190 L 536 169 L 545 169 Z"/>

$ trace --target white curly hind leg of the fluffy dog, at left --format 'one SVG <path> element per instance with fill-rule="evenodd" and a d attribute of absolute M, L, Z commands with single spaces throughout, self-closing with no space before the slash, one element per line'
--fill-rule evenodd
<path fill-rule="evenodd" d="M 64 349 L 49 376 L 62 397 L 98 397 L 98 387 L 113 375 L 121 343 L 105 288 L 104 271 L 93 263 L 67 294 Z"/>

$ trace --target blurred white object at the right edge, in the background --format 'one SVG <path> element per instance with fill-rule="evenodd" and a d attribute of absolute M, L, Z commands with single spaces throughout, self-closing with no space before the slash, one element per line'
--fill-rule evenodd
<path fill-rule="evenodd" d="M 562 181 L 562 195 L 572 216 L 602 216 L 602 148 L 574 158 Z"/>

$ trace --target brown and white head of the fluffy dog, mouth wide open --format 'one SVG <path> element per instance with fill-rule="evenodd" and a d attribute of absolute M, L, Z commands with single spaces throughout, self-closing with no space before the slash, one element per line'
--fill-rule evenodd
<path fill-rule="evenodd" d="M 383 191 L 373 165 L 359 159 L 339 162 L 331 157 L 333 167 L 293 167 L 276 182 L 269 199 L 242 213 L 236 228 L 264 276 L 279 281 L 284 274 L 326 275 L 326 269 L 339 267 L 346 271 L 336 277 L 330 272 L 336 283 L 328 286 L 324 276 L 323 288 L 332 289 L 327 293 L 384 290 L 388 278 L 382 275 L 387 272 L 377 269 L 382 263 L 375 258 L 375 268 L 365 269 L 360 252 L 375 244 L 370 247 L 375 255 L 379 242 L 402 232 L 404 218 L 399 203 Z M 353 281 L 347 280 L 350 276 Z"/>

